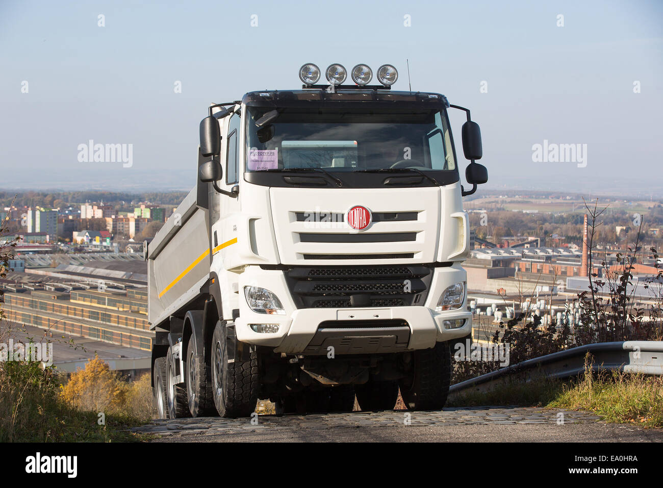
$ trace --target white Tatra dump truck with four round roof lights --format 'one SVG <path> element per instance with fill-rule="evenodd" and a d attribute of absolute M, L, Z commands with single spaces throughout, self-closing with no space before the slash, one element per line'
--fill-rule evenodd
<path fill-rule="evenodd" d="M 198 185 L 146 243 L 163 418 L 444 406 L 471 331 L 461 197 L 479 126 L 393 66 L 300 68 L 302 88 L 213 104 Z M 353 83 L 346 82 L 351 76 Z M 460 181 L 448 110 L 463 110 Z"/>

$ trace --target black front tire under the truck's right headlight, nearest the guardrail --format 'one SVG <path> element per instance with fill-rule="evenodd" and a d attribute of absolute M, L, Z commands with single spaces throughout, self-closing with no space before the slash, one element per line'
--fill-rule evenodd
<path fill-rule="evenodd" d="M 448 343 L 414 351 L 414 374 L 400 382 L 400 396 L 408 410 L 442 410 L 449 394 L 451 354 Z"/>

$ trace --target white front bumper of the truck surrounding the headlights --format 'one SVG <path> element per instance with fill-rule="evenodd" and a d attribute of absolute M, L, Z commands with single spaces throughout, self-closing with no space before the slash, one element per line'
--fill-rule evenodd
<path fill-rule="evenodd" d="M 450 341 L 471 333 L 472 314 L 467 311 L 466 299 L 463 301 L 463 306 L 458 309 L 435 311 L 435 306 L 444 289 L 465 280 L 465 270 L 461 268 L 460 264 L 447 268 L 435 268 L 430 291 L 423 306 L 297 309 L 282 271 L 263 270 L 259 266 L 249 266 L 241 274 L 239 280 L 240 312 L 239 317 L 235 319 L 235 334 L 239 341 L 274 347 L 274 351 L 277 353 L 313 354 L 312 350 L 315 348 L 310 345 L 314 337 L 319 336 L 321 329 L 342 321 L 343 329 L 335 330 L 340 331 L 341 335 L 347 333 L 348 336 L 357 339 L 353 339 L 354 345 L 351 345 L 349 349 L 341 350 L 339 353 L 361 354 L 428 349 L 434 347 L 438 341 Z M 275 293 L 283 304 L 285 315 L 266 315 L 251 310 L 243 296 L 245 285 L 258 285 Z M 457 329 L 445 329 L 444 321 L 450 319 L 465 319 L 465 324 Z M 408 329 L 408 334 L 404 339 L 406 343 L 398 345 L 396 349 L 388 347 L 389 341 L 383 341 L 380 345 L 377 336 L 391 334 L 388 326 L 393 325 L 396 321 L 404 323 Z M 251 329 L 251 324 L 257 323 L 278 324 L 278 332 L 257 333 Z M 353 327 L 354 323 L 357 324 L 357 327 Z M 375 327 L 371 327 L 373 323 Z M 392 327 L 391 330 L 393 331 L 394 328 Z M 367 338 L 372 338 L 373 341 L 362 342 L 360 340 L 362 331 L 365 331 Z M 398 337 L 398 340 L 402 341 L 404 336 L 399 335 Z M 337 343 L 339 342 L 336 341 L 333 344 Z M 319 354 L 320 351 L 315 353 Z"/>

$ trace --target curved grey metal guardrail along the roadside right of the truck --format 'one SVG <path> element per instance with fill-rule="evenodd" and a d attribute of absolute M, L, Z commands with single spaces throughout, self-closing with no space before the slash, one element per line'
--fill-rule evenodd
<path fill-rule="evenodd" d="M 593 356 L 592 370 L 623 370 L 643 374 L 663 374 L 663 341 L 625 341 L 573 347 L 558 353 L 528 359 L 517 365 L 482 374 L 449 388 L 450 396 L 472 390 L 485 392 L 505 384 L 514 377 L 532 381 L 542 376 L 565 379 L 585 370 L 585 355 Z M 452 359 L 453 361 L 453 359 Z"/>

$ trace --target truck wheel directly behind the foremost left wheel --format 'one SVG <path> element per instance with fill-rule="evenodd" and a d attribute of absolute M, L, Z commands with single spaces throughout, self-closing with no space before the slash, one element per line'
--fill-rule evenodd
<path fill-rule="evenodd" d="M 215 416 L 210 361 L 196 356 L 194 336 L 186 346 L 186 398 L 192 417 Z"/>

